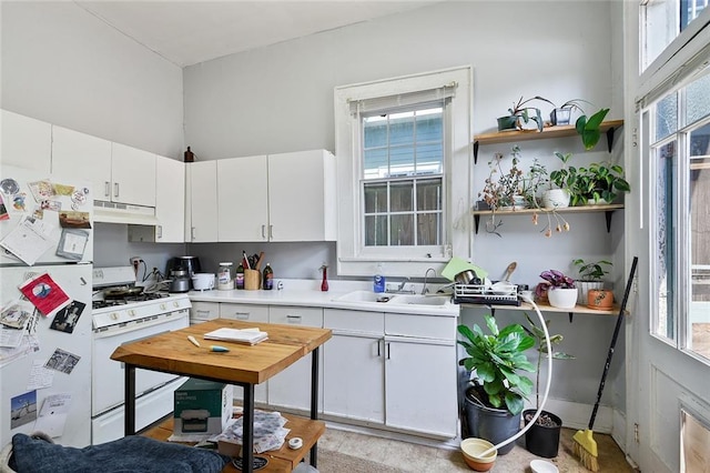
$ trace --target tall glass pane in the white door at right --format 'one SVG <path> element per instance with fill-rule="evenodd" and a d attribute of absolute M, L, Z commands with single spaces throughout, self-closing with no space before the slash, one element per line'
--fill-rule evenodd
<path fill-rule="evenodd" d="M 655 335 L 710 361 L 710 71 L 642 113 L 657 187 Z"/>

